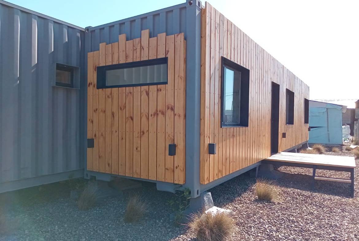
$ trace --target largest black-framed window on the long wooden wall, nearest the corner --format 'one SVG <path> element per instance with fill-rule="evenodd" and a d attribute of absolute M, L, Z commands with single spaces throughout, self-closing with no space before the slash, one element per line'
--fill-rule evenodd
<path fill-rule="evenodd" d="M 250 70 L 222 57 L 222 127 L 248 126 Z"/>

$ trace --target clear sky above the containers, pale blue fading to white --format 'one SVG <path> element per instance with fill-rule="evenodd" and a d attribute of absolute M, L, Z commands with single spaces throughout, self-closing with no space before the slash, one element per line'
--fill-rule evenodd
<path fill-rule="evenodd" d="M 8 1 L 80 27 L 98 26 L 185 2 Z M 210 0 L 209 3 L 307 83 L 311 99 L 349 99 L 343 104 L 354 107 L 354 99 L 359 99 L 358 0 Z"/>

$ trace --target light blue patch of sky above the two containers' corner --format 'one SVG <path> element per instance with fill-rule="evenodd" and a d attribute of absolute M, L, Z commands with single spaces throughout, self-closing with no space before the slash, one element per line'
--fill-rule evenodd
<path fill-rule="evenodd" d="M 185 0 L 8 0 L 8 2 L 85 28 L 181 4 Z"/>

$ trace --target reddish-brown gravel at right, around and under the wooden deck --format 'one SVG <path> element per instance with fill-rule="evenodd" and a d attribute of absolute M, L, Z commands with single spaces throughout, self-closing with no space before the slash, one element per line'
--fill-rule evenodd
<path fill-rule="evenodd" d="M 344 147 L 341 153 L 325 154 L 353 156 Z M 355 198 L 350 198 L 349 184 L 339 182 L 316 181 L 313 192 L 312 169 L 282 166 L 277 170 L 284 175 L 277 180 L 279 198 L 275 203 L 258 201 L 255 180 L 245 175 L 210 190 L 216 206 L 233 210 L 237 227 L 229 240 L 359 240 L 358 168 L 354 175 Z M 350 176 L 348 172 L 317 170 L 317 173 L 329 177 Z M 186 232 L 173 241 L 193 236 Z"/>

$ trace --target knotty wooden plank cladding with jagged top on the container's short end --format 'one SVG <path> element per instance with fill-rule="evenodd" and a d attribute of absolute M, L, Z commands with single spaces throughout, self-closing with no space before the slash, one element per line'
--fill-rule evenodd
<path fill-rule="evenodd" d="M 184 34 L 101 43 L 88 53 L 90 171 L 185 183 L 186 41 Z M 97 89 L 97 66 L 168 57 L 168 84 Z M 168 144 L 176 155 L 168 155 Z"/>

